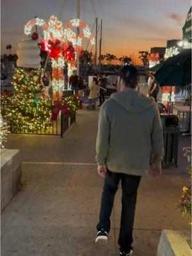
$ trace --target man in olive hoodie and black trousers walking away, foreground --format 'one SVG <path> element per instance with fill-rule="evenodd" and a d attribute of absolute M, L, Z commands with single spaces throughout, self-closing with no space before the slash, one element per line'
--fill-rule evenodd
<path fill-rule="evenodd" d="M 121 180 L 118 244 L 120 255 L 124 256 L 132 255 L 134 212 L 141 176 L 159 175 L 163 158 L 163 132 L 157 104 L 153 98 L 136 91 L 138 80 L 138 70 L 133 66 L 120 70 L 118 92 L 100 108 L 96 143 L 98 172 L 105 179 L 95 241 L 108 241 L 111 211 Z"/>

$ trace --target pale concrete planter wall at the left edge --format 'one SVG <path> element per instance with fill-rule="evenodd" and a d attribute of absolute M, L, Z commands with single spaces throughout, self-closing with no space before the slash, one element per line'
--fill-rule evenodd
<path fill-rule="evenodd" d="M 1 212 L 21 186 L 20 150 L 1 149 Z"/>

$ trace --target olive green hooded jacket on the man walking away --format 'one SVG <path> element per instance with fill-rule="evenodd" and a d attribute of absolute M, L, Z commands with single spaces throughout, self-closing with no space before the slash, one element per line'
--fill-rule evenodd
<path fill-rule="evenodd" d="M 97 164 L 111 172 L 144 175 L 150 156 L 161 164 L 163 131 L 154 99 L 132 89 L 113 93 L 100 108 L 96 151 Z"/>

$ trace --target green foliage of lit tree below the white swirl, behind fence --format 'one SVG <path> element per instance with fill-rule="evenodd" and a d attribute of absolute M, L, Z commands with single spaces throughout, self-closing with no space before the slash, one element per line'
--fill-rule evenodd
<path fill-rule="evenodd" d="M 15 68 L 12 84 L 13 97 L 1 97 L 6 106 L 3 115 L 12 130 L 21 132 L 40 131 L 50 124 L 52 100 L 45 99 L 42 89 L 42 70 L 39 68 Z"/>

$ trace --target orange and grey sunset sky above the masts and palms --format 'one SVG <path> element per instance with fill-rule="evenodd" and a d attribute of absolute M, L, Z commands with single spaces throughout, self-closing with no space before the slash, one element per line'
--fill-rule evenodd
<path fill-rule="evenodd" d="M 12 44 L 13 53 L 17 51 L 24 24 L 35 15 L 45 21 L 51 15 L 58 17 L 62 2 L 1 0 L 1 54 L 7 44 Z M 150 47 L 165 47 L 166 40 L 181 39 L 190 4 L 190 0 L 81 0 L 81 19 L 91 29 L 95 17 L 103 20 L 102 54 L 137 55 Z M 76 0 L 67 0 L 61 20 L 65 24 L 75 17 Z"/>

